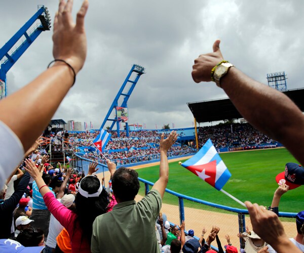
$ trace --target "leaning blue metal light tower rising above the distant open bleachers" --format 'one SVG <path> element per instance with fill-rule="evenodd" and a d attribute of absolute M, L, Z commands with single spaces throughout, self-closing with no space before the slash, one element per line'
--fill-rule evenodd
<path fill-rule="evenodd" d="M 133 74 L 134 73 L 134 74 Z M 134 80 L 131 80 L 131 76 L 133 77 L 133 75 L 136 75 L 135 76 L 135 79 Z M 115 125 L 116 123 L 116 129 L 117 129 L 117 136 L 120 137 L 120 121 L 119 121 L 119 118 L 117 117 L 117 110 L 116 108 L 117 107 L 124 107 L 126 108 L 127 107 L 127 102 L 128 102 L 128 99 L 130 98 L 130 95 L 132 93 L 132 91 L 134 90 L 135 88 L 135 85 L 139 79 L 139 77 L 144 74 L 144 67 L 142 66 L 139 66 L 139 65 L 136 65 L 134 64 L 129 72 L 129 74 L 127 75 L 121 89 L 119 90 L 119 92 L 117 93 L 108 113 L 106 114 L 101 126 L 100 126 L 100 130 L 103 129 L 106 121 L 112 121 L 111 123 L 111 126 L 109 128 L 109 130 L 112 130 L 113 126 Z M 130 87 L 128 89 L 128 87 L 126 87 L 127 84 L 130 84 Z M 112 111 L 115 110 L 115 116 L 114 118 L 109 118 Z M 127 137 L 129 137 L 129 127 L 128 127 L 128 122 L 125 122 L 126 123 L 126 133 L 127 133 Z"/>

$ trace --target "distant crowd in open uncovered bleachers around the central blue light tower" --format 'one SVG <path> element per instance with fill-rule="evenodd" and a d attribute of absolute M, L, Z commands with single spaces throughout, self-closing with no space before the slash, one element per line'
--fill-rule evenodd
<path fill-rule="evenodd" d="M 160 158 L 158 144 L 160 141 L 160 132 L 158 131 L 130 131 L 129 137 L 126 137 L 126 132 L 121 132 L 120 137 L 117 137 L 116 131 L 109 131 L 109 133 L 111 134 L 111 139 L 103 150 L 103 154 L 106 158 L 115 161 L 118 165 Z M 92 142 L 98 134 L 99 131 L 87 131 L 86 133 L 79 133 L 70 137 L 76 144 L 75 151 L 80 151 L 77 147 L 82 145 L 92 146 Z M 196 149 L 176 142 L 168 152 L 168 156 L 180 156 L 195 152 Z M 83 157 L 105 163 L 104 157 L 97 150 L 89 151 L 87 148 Z"/>

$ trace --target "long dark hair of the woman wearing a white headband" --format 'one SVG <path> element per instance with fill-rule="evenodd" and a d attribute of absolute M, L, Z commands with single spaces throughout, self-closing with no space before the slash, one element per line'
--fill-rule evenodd
<path fill-rule="evenodd" d="M 100 181 L 96 177 L 85 177 L 81 181 L 81 188 L 89 194 L 97 192 L 100 187 Z M 82 239 L 87 237 L 89 244 L 91 244 L 92 226 L 95 218 L 106 213 L 108 205 L 107 193 L 102 190 L 98 197 L 84 197 L 80 193 L 75 196 L 75 213 L 77 219 L 74 223 L 74 231 L 79 227 L 82 230 Z"/>

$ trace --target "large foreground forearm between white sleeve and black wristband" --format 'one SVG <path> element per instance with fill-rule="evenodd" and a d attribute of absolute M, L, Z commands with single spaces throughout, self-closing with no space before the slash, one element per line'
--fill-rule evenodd
<path fill-rule="evenodd" d="M 72 81 L 71 69 L 64 63 L 57 63 L 0 101 L 0 120 L 18 136 L 24 150 L 30 148 L 45 129 Z"/>

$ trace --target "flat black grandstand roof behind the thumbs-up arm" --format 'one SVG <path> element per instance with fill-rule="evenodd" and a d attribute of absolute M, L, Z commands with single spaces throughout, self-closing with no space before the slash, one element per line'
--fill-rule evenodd
<path fill-rule="evenodd" d="M 287 95 L 301 111 L 304 111 L 304 89 L 289 90 L 283 93 Z M 187 105 L 199 123 L 243 118 L 230 99 L 188 102 Z"/>

